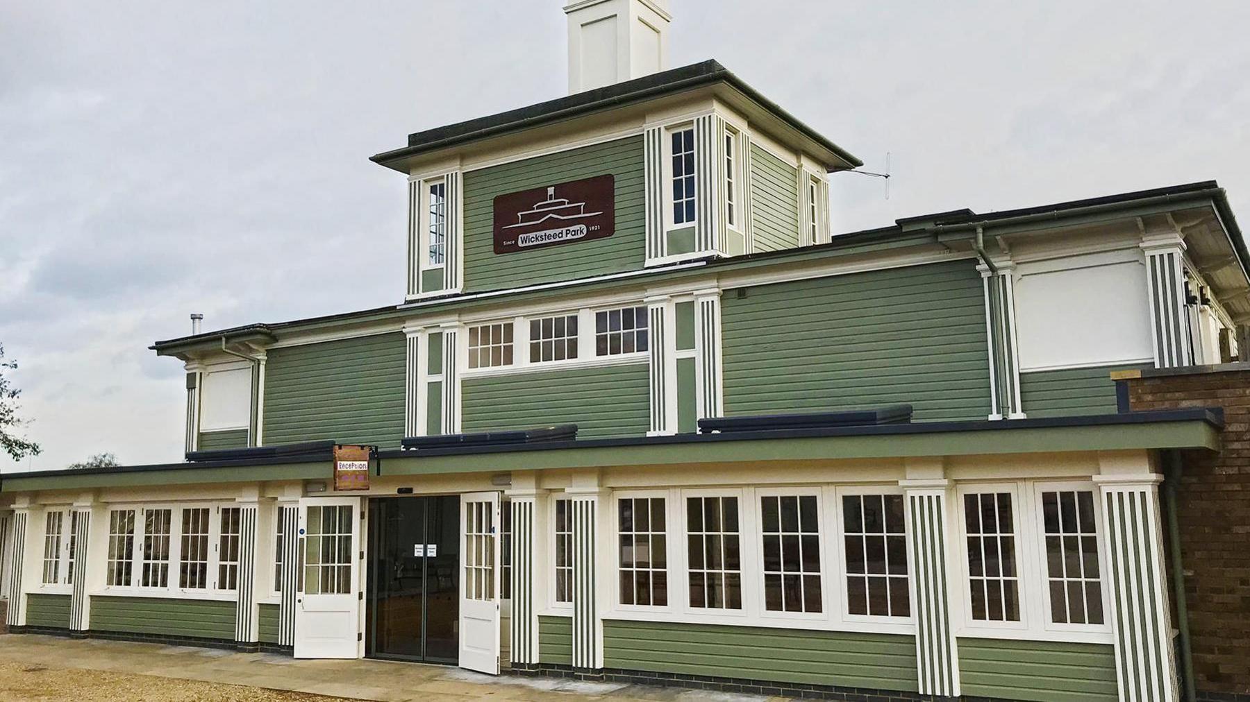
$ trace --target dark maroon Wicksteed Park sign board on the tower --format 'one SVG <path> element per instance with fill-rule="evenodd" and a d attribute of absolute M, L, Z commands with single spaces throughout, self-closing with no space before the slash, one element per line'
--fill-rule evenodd
<path fill-rule="evenodd" d="M 495 197 L 495 254 L 611 236 L 616 184 L 601 175 Z"/>

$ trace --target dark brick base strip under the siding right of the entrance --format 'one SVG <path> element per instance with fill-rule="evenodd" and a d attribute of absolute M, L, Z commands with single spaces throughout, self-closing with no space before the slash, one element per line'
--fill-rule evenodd
<path fill-rule="evenodd" d="M 520 665 L 512 663 L 512 672 L 528 676 L 568 677 L 596 682 L 624 682 L 630 685 L 655 685 L 665 687 L 688 687 L 692 690 L 714 690 L 740 695 L 770 695 L 776 697 L 801 697 L 806 700 L 845 700 L 848 702 L 898 702 L 900 700 L 929 701 L 940 700 L 915 692 L 890 690 L 869 690 L 859 687 L 838 687 L 831 685 L 805 685 L 798 682 L 774 682 L 742 680 L 716 676 L 686 676 L 678 673 L 659 673 L 651 671 L 626 671 L 604 668 L 591 671 L 571 666 L 550 663 Z"/>

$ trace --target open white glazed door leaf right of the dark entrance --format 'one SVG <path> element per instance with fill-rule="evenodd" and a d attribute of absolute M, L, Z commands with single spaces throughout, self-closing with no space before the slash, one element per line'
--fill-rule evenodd
<path fill-rule="evenodd" d="M 460 496 L 460 667 L 499 675 L 499 493 Z"/>

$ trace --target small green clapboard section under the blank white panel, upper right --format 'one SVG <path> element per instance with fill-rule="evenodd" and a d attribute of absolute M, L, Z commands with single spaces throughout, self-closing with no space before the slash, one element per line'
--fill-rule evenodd
<path fill-rule="evenodd" d="M 1111 371 L 1142 366 L 1099 366 L 1020 373 L 1020 405 L 1029 417 L 1114 415 Z"/>

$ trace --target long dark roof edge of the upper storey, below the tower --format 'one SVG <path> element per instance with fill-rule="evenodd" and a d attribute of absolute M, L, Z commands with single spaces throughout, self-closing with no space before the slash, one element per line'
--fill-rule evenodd
<path fill-rule="evenodd" d="M 932 220 L 935 224 L 941 224 L 942 226 L 950 226 L 950 225 L 960 225 L 960 224 L 964 224 L 964 222 L 994 221 L 994 220 L 1001 220 L 1001 219 L 1006 219 L 1006 217 L 1014 217 L 1014 216 L 1028 215 L 1028 214 L 1044 214 L 1044 212 L 1050 212 L 1050 211 L 1059 211 L 1060 214 L 1062 214 L 1062 210 L 1076 209 L 1076 207 L 1086 207 L 1086 206 L 1090 206 L 1090 205 L 1124 204 L 1125 206 L 1131 206 L 1135 200 L 1142 200 L 1142 199 L 1146 199 L 1146 197 L 1156 197 L 1156 196 L 1160 196 L 1160 195 L 1175 195 L 1178 199 L 1181 199 L 1181 197 L 1186 197 L 1186 199 L 1188 197 L 1202 197 L 1202 196 L 1210 197 L 1211 201 L 1214 202 L 1214 206 L 1215 206 L 1216 211 L 1220 214 L 1220 217 L 1224 221 L 1225 227 L 1228 229 L 1229 237 L 1232 240 L 1232 245 L 1234 245 L 1234 249 L 1238 252 L 1238 256 L 1241 259 L 1242 265 L 1248 270 L 1250 270 L 1250 252 L 1246 251 L 1246 244 L 1245 244 L 1245 240 L 1241 236 L 1241 230 L 1238 227 L 1236 219 L 1234 219 L 1234 216 L 1232 216 L 1232 210 L 1229 206 L 1228 195 L 1224 191 L 1224 189 L 1220 187 L 1219 184 L 1216 181 L 1214 181 L 1214 180 L 1205 180 L 1205 181 L 1199 181 L 1199 182 L 1172 185 L 1172 186 L 1166 186 L 1166 187 L 1156 187 L 1156 189 L 1151 189 L 1151 190 L 1139 190 L 1139 191 L 1132 191 L 1132 192 L 1120 192 L 1120 194 L 1115 194 L 1115 195 L 1104 195 L 1104 196 L 1099 196 L 1099 197 L 1090 197 L 1090 199 L 1086 199 L 1086 200 L 1071 200 L 1071 201 L 1068 201 L 1068 202 L 1055 202 L 1055 204 L 1051 204 L 1051 205 L 1038 205 L 1038 206 L 1022 207 L 1022 209 L 1018 209 L 1018 210 L 1002 210 L 1000 212 L 990 212 L 990 214 L 986 214 L 986 215 L 978 215 L 972 210 L 968 210 L 968 209 L 950 210 L 950 211 L 946 211 L 946 212 L 938 212 L 938 214 L 934 214 L 934 215 L 916 215 L 916 216 L 902 217 L 902 219 L 895 220 L 896 224 L 894 224 L 894 225 L 886 225 L 886 226 L 881 226 L 881 227 L 865 229 L 865 230 L 859 230 L 859 231 L 852 231 L 852 232 L 846 232 L 846 234 L 839 234 L 839 235 L 835 235 L 831 241 L 826 241 L 824 244 L 818 244 L 818 245 L 814 245 L 814 246 L 799 246 L 799 247 L 795 247 L 795 249 L 780 249 L 778 251 L 761 251 L 761 252 L 758 252 L 758 254 L 748 254 L 748 255 L 744 255 L 744 256 L 732 256 L 732 257 L 729 257 L 729 259 L 712 259 L 712 260 L 708 261 L 708 265 L 709 266 L 732 266 L 732 265 L 739 264 L 739 262 L 756 261 L 756 260 L 761 260 L 761 259 L 785 259 L 786 256 L 801 256 L 801 255 L 805 255 L 805 254 L 819 252 L 819 251 L 836 251 L 838 249 L 846 249 L 846 247 L 851 247 L 851 246 L 859 246 L 859 245 L 864 245 L 864 244 L 869 244 L 869 242 L 874 242 L 874 241 L 885 241 L 885 240 L 890 240 L 890 239 L 894 239 L 894 237 L 898 237 L 898 236 L 909 235 L 909 234 L 916 234 L 916 235 L 922 235 L 924 234 L 924 230 L 919 229 L 919 227 L 915 231 L 905 232 L 901 225 L 906 224 L 906 222 L 916 222 L 916 221 Z M 669 267 L 650 269 L 650 272 L 654 272 L 654 274 L 662 274 L 662 272 L 668 272 L 668 271 L 669 271 Z M 591 282 L 595 282 L 595 281 L 594 280 L 575 280 L 575 281 L 568 281 L 568 285 L 569 285 L 569 287 L 576 287 L 579 285 L 589 285 Z M 474 295 L 486 295 L 486 294 L 492 294 L 492 292 L 500 292 L 500 290 L 482 290 L 482 291 L 475 292 Z M 445 301 L 445 302 L 456 302 L 460 299 L 461 299 L 461 296 L 454 296 L 452 295 L 452 296 L 448 296 L 448 297 L 444 297 L 444 299 L 436 299 L 436 300 L 438 301 Z M 431 300 L 431 301 L 434 301 L 434 300 Z M 180 336 L 180 337 L 169 339 L 169 340 L 164 340 L 164 341 L 156 341 L 151 346 L 149 346 L 149 349 L 152 350 L 152 351 L 161 351 L 161 350 L 170 349 L 170 347 L 185 346 L 185 345 L 198 344 L 198 342 L 202 342 L 202 341 L 216 340 L 216 339 L 221 337 L 222 335 L 225 335 L 225 336 L 235 336 L 235 335 L 252 332 L 252 331 L 272 334 L 274 331 L 279 331 L 279 330 L 282 330 L 285 327 L 298 326 L 298 325 L 302 325 L 302 324 L 328 322 L 328 321 L 335 321 L 335 320 L 344 320 L 344 321 L 346 321 L 346 320 L 351 320 L 351 319 L 355 319 L 355 317 L 368 316 L 368 315 L 378 315 L 378 314 L 392 312 L 392 311 L 399 310 L 402 306 L 404 306 L 404 304 L 385 305 L 385 306 L 381 306 L 381 307 L 371 307 L 371 309 L 368 309 L 368 310 L 355 310 L 355 311 L 349 311 L 349 312 L 334 312 L 334 314 L 330 314 L 330 315 L 318 315 L 318 316 L 314 316 L 314 317 L 302 317 L 302 319 L 288 320 L 288 321 L 281 321 L 281 322 L 265 322 L 265 324 L 244 325 L 244 326 L 238 326 L 238 327 L 231 327 L 231 329 L 225 329 L 225 330 L 204 332 L 204 334 L 192 335 L 192 336 Z"/>

